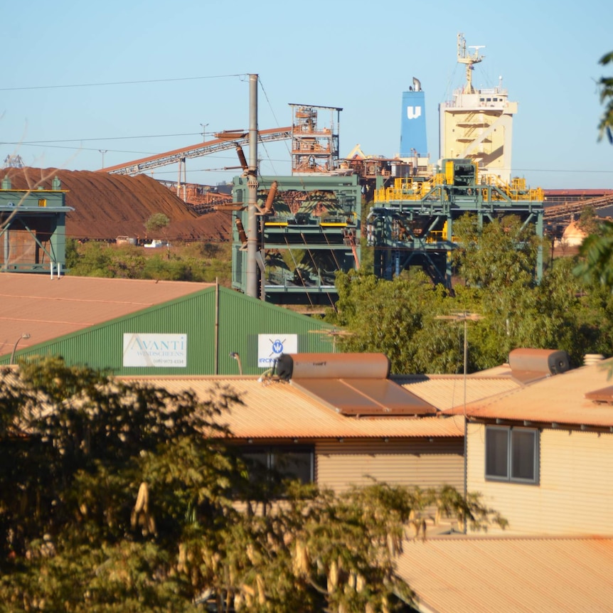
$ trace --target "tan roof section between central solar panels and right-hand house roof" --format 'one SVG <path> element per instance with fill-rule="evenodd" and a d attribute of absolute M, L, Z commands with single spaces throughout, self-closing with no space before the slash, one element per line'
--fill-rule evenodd
<path fill-rule="evenodd" d="M 464 375 L 395 376 L 393 380 L 439 410 L 464 407 Z M 521 383 L 511 376 L 479 377 L 477 373 L 466 378 L 466 402 L 472 403 L 522 387 Z"/>

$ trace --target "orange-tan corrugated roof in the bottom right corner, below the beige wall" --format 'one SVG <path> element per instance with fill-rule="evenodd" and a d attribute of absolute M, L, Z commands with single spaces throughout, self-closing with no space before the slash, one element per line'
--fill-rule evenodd
<path fill-rule="evenodd" d="M 398 572 L 424 612 L 613 610 L 611 537 L 415 540 Z"/>

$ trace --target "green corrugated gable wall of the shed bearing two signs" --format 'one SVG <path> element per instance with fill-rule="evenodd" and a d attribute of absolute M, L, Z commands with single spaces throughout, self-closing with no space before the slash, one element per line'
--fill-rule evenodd
<path fill-rule="evenodd" d="M 258 335 L 266 335 L 270 343 L 284 343 L 292 338 L 289 335 L 297 335 L 300 353 L 330 353 L 335 351 L 334 336 L 326 331 L 333 330 L 317 319 L 216 286 L 30 346 L 16 355 L 59 355 L 70 365 L 110 368 L 115 375 L 235 375 L 239 366 L 243 374 L 255 375 L 265 371 L 258 366 Z M 152 335 L 147 338 L 154 341 L 163 338 L 159 335 L 181 335 L 185 366 L 124 366 L 124 335 Z M 0 364 L 7 363 L 7 356 L 0 358 Z"/>

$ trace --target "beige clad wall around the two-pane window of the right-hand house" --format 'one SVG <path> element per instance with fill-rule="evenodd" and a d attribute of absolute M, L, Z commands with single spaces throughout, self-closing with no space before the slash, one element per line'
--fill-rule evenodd
<path fill-rule="evenodd" d="M 540 483 L 485 479 L 485 426 L 469 424 L 468 489 L 502 513 L 508 532 L 613 533 L 613 434 L 540 432 Z"/>

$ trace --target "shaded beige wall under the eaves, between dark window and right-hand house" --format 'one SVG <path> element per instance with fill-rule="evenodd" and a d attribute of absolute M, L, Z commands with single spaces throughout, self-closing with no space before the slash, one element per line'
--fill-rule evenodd
<path fill-rule="evenodd" d="M 315 479 L 341 492 L 351 484 L 378 481 L 406 486 L 449 484 L 462 491 L 464 443 L 459 438 L 319 441 L 315 444 Z"/>

